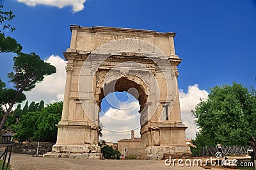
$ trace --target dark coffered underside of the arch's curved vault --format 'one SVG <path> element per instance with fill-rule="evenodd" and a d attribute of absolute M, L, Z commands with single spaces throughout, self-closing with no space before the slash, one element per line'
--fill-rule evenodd
<path fill-rule="evenodd" d="M 104 88 L 100 88 L 99 100 L 102 101 L 102 99 L 106 97 L 106 95 L 115 91 L 126 91 L 127 93 L 130 93 L 133 97 L 135 97 L 140 104 L 139 112 L 141 112 L 144 109 L 145 104 L 147 103 L 148 96 L 145 92 L 145 89 L 143 89 L 143 86 L 127 79 L 127 77 L 121 77 L 117 81 L 115 80 L 109 82 L 108 84 L 104 84 Z"/>

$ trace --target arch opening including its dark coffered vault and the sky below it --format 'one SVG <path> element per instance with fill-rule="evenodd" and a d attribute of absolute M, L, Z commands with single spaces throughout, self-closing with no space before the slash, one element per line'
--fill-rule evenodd
<path fill-rule="evenodd" d="M 147 97 L 145 84 L 139 77 L 131 79 L 127 75 L 105 83 L 99 94 L 99 120 L 104 125 L 100 139 L 113 143 L 131 139 L 131 130 L 140 138 L 140 112 Z"/>

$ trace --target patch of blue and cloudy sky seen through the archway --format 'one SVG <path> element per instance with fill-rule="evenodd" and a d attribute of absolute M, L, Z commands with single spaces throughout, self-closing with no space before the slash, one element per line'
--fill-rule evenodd
<path fill-rule="evenodd" d="M 117 143 L 120 139 L 131 138 L 131 130 L 140 137 L 140 104 L 135 97 L 125 91 L 109 93 L 100 106 L 99 120 L 104 126 L 100 139 Z"/>

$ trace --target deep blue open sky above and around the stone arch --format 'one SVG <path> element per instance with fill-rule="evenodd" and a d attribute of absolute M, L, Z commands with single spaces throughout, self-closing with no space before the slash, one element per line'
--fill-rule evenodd
<path fill-rule="evenodd" d="M 49 1 L 51 6 L 29 6 L 33 1 L 40 2 L 2 1 L 4 10 L 12 10 L 16 15 L 11 24 L 17 30 L 5 34 L 15 38 L 22 45 L 23 52 L 36 52 L 45 60 L 52 56 L 52 62 L 56 64 L 63 62 L 53 60 L 54 56 L 63 58 L 62 52 L 69 47 L 70 24 L 172 31 L 177 33 L 176 53 L 183 59 L 179 66 L 179 88 L 183 89 L 181 96 L 187 102 L 191 97 L 189 94 L 195 94 L 193 90 L 204 96 L 210 88 L 234 81 L 255 87 L 256 1 L 88 0 L 84 4 L 70 1 L 77 12 L 72 6 L 59 8 L 62 4 L 54 5 L 55 0 Z M 12 70 L 12 56 L 0 55 L 0 77 L 5 82 L 8 81 L 6 73 Z M 61 71 L 60 75 L 64 74 Z M 60 84 L 63 79 L 60 79 Z M 42 87 L 32 95 L 29 93 L 29 99 L 42 97 L 40 91 L 43 93 Z M 61 94 L 58 95 L 47 100 L 61 98 Z"/>

